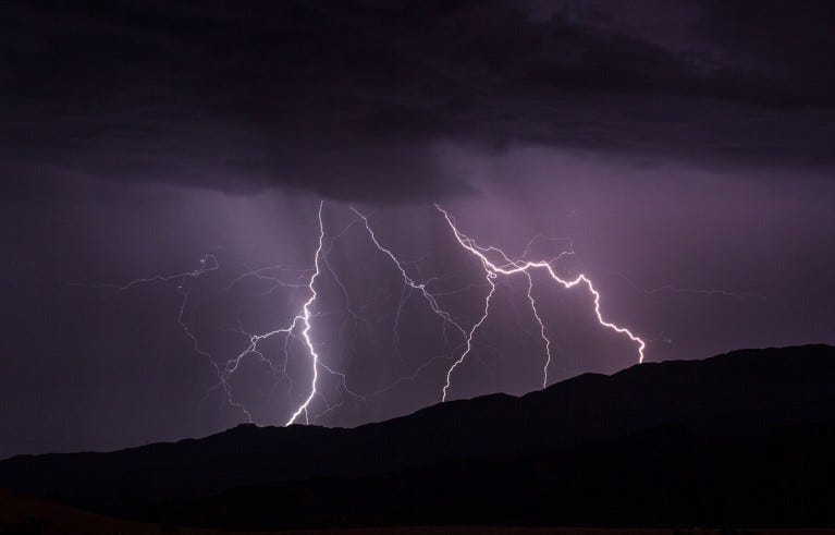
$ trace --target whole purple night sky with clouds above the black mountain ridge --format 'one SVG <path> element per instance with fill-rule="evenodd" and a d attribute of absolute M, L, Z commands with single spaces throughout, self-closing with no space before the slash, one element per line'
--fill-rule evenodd
<path fill-rule="evenodd" d="M 0 13 L 0 458 L 204 436 L 242 408 L 283 425 L 310 392 L 300 329 L 225 385 L 216 365 L 288 325 L 317 265 L 308 420 L 440 401 L 463 339 L 352 207 L 466 329 L 490 284 L 435 203 L 514 258 L 572 251 L 553 266 L 647 361 L 835 343 L 830 1 Z M 588 291 L 532 281 L 549 384 L 637 363 Z M 449 399 L 542 386 L 527 279 L 495 284 Z"/>

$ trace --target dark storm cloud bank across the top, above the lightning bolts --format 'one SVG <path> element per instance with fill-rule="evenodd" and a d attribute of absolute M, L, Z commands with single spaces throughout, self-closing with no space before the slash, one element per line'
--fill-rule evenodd
<path fill-rule="evenodd" d="M 16 3 L 0 41 L 7 181 L 281 185 L 390 202 L 467 193 L 439 161 L 444 143 L 828 170 L 832 11 Z"/>

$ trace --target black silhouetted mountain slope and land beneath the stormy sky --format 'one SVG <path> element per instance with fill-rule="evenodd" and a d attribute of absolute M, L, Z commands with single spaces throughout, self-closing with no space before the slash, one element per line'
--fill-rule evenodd
<path fill-rule="evenodd" d="M 49 498 L 30 502 L 49 514 L 115 525 L 63 503 L 157 524 L 122 533 L 810 533 L 835 526 L 833 385 L 833 348 L 739 351 L 588 374 L 521 398 L 444 403 L 354 429 L 240 426 L 112 453 L 19 455 L 0 462 L 0 487 Z M 46 526 L 63 521 L 53 522 Z"/>

